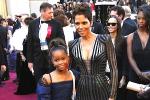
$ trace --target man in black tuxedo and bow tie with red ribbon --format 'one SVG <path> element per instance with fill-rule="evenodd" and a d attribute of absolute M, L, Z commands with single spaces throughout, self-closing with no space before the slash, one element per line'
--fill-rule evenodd
<path fill-rule="evenodd" d="M 49 65 L 48 45 L 54 38 L 64 38 L 61 25 L 53 19 L 53 8 L 49 3 L 40 6 L 41 16 L 29 24 L 27 37 L 28 67 L 38 81 L 43 74 L 53 70 Z"/>

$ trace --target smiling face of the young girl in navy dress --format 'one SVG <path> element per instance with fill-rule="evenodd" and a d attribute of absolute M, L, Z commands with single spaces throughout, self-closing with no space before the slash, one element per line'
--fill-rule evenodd
<path fill-rule="evenodd" d="M 52 52 L 52 63 L 59 71 L 67 70 L 69 67 L 69 57 L 64 50 Z"/>

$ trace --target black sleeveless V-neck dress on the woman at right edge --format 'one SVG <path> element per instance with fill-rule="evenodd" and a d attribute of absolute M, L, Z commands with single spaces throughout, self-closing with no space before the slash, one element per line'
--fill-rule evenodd
<path fill-rule="evenodd" d="M 137 32 L 135 32 L 133 36 L 133 42 L 132 42 L 132 52 L 133 52 L 133 57 L 139 69 L 141 71 L 148 71 L 148 70 L 150 71 L 150 37 L 148 39 L 146 47 L 142 48 L 139 35 Z M 140 83 L 140 84 L 148 84 L 147 82 L 141 81 L 132 69 L 130 69 L 129 72 L 129 81 Z M 128 93 L 127 100 L 139 100 L 137 99 L 137 93 L 130 91 Z"/>

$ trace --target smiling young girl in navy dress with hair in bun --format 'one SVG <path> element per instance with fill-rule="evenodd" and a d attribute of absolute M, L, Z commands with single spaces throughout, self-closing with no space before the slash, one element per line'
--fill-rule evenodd
<path fill-rule="evenodd" d="M 56 69 L 43 75 L 42 82 L 48 86 L 45 90 L 50 92 L 40 96 L 39 99 L 71 100 L 75 85 L 73 84 L 73 73 L 69 70 L 69 56 L 66 46 L 61 41 L 53 40 L 50 47 L 51 62 Z"/>

